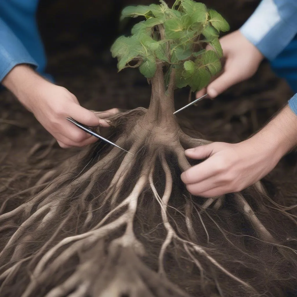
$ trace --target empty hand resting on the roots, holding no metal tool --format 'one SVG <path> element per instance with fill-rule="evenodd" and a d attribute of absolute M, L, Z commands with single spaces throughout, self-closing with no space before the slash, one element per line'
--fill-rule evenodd
<path fill-rule="evenodd" d="M 205 159 L 181 174 L 188 191 L 196 196 L 215 197 L 242 189 L 266 176 L 281 155 L 271 146 L 254 141 L 214 142 L 185 151 L 192 159 Z"/>

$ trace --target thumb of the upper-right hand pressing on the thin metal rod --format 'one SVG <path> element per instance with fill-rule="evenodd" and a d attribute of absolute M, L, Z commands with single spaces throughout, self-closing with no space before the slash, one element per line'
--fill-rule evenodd
<path fill-rule="evenodd" d="M 226 71 L 223 72 L 217 79 L 215 79 L 212 83 L 210 83 L 207 87 L 207 93 L 209 97 L 215 98 L 223 91 L 230 88 L 234 84 L 240 82 L 240 78 L 236 73 Z"/>

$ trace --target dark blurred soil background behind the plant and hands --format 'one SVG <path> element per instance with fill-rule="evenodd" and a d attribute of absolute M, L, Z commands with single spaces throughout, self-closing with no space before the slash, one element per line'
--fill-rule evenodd
<path fill-rule="evenodd" d="M 173 1 L 167 1 L 172 4 Z M 238 29 L 259 0 L 205 0 Z M 120 34 L 129 34 L 135 20 L 119 23 L 121 9 L 129 4 L 158 3 L 149 0 L 40 0 L 38 24 L 48 56 L 47 71 L 92 110 L 113 107 L 147 107 L 150 88 L 137 69 L 117 73 L 110 45 Z M 214 141 L 244 140 L 292 95 L 264 61 L 256 75 L 224 92 L 215 100 L 204 99 L 179 114 L 181 125 L 202 132 Z M 177 90 L 176 109 L 187 104 L 188 89 Z M 0 93 L 0 182 L 3 187 L 28 187 L 37 176 L 56 166 L 79 149 L 63 150 L 51 135 L 7 91 Z M 296 154 L 289 154 L 267 178 L 270 191 L 290 192 L 295 183 Z M 26 172 L 31 178 L 23 178 Z M 273 183 L 271 183 L 273 182 Z M 0 184 L 1 190 L 1 184 Z M 280 194 L 281 195 L 281 194 Z"/>

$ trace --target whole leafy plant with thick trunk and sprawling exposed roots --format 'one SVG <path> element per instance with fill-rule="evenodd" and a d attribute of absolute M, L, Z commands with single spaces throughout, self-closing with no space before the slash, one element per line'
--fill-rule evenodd
<path fill-rule="evenodd" d="M 110 118 L 110 139 L 131 154 L 98 142 L 18 193 L 26 200 L 17 208 L 6 207 L 17 195 L 4 197 L 0 296 L 286 296 L 297 277 L 293 207 L 277 205 L 260 182 L 204 199 L 179 177 L 191 166 L 184 149 L 208 142 L 182 132 L 173 92 L 183 83 L 195 91 L 203 73 L 219 71 L 225 20 L 191 0 L 123 15 L 147 20 L 132 43 L 114 45 L 119 68 L 135 61 L 152 87 L 147 110 Z M 203 42 L 215 51 L 201 51 Z"/>

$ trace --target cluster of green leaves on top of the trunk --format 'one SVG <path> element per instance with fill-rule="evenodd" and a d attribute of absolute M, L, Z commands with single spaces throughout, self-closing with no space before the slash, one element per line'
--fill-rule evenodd
<path fill-rule="evenodd" d="M 177 87 L 189 85 L 192 91 L 206 86 L 221 70 L 222 48 L 219 32 L 228 31 L 226 20 L 215 10 L 193 0 L 176 0 L 170 9 L 161 4 L 129 6 L 121 19 L 144 17 L 132 28 L 132 36 L 119 37 L 111 47 L 118 58 L 119 71 L 135 61 L 146 78 L 152 78 L 156 63 L 168 65 L 166 75 L 176 68 Z M 213 50 L 205 51 L 209 44 Z M 168 77 L 165 77 L 168 80 Z"/>

